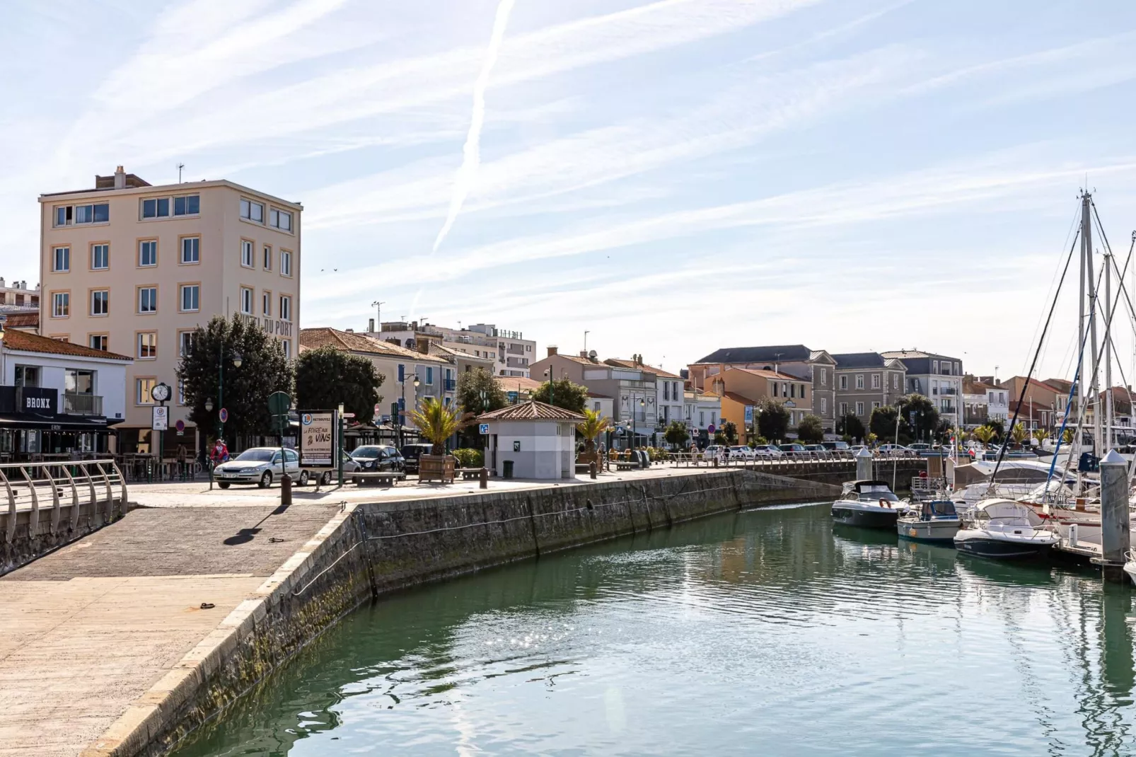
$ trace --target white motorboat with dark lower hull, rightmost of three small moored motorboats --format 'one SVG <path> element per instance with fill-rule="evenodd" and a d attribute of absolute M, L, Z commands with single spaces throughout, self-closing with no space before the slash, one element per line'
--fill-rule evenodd
<path fill-rule="evenodd" d="M 1012 499 L 978 502 L 954 534 L 960 551 L 999 559 L 1044 557 L 1059 540 L 1033 508 Z"/>

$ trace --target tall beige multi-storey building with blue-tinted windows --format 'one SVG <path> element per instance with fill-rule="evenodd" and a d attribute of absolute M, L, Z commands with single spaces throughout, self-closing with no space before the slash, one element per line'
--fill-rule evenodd
<path fill-rule="evenodd" d="M 40 333 L 128 355 L 122 451 L 150 444 L 151 388 L 174 388 L 167 449 L 194 442 L 177 390 L 193 331 L 241 314 L 299 347 L 302 207 L 229 181 L 151 186 L 119 166 L 40 196 Z"/>

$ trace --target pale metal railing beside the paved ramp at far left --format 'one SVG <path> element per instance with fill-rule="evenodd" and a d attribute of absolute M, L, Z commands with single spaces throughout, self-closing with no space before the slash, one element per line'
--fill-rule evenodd
<path fill-rule="evenodd" d="M 126 480 L 114 460 L 74 460 L 67 463 L 0 464 L 0 497 L 8 499 L 7 539 L 16 536 L 16 514 L 30 513 L 28 535 L 41 533 L 40 510 L 51 508 L 51 533 L 59 531 L 64 508 L 69 507 L 69 529 L 78 525 L 80 510 L 103 514 L 103 522 L 115 514 L 126 514 Z M 0 509 L 0 513 L 3 510 Z"/>

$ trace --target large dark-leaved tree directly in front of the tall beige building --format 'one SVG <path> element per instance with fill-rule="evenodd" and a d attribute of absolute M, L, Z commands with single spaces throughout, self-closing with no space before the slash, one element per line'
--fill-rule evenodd
<path fill-rule="evenodd" d="M 234 356 L 241 365 L 234 365 Z M 218 391 L 219 367 L 224 366 L 224 392 Z M 270 433 L 268 396 L 292 392 L 292 364 L 284 357 L 279 341 L 241 316 L 232 321 L 214 316 L 193 332 L 192 349 L 182 356 L 177 378 L 182 382 L 190 421 L 202 433 L 217 425 L 222 407 L 228 410 L 225 432 L 229 435 Z M 212 410 L 206 409 L 206 400 Z"/>

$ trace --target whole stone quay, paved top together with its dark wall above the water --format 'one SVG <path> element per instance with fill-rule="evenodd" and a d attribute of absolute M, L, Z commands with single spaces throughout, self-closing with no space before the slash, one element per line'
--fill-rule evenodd
<path fill-rule="evenodd" d="M 0 755 L 158 755 L 382 592 L 834 486 L 740 469 L 186 492 L 0 579 Z M 142 504 L 164 501 L 154 488 Z M 266 492 L 265 494 L 270 494 Z M 276 492 L 278 494 L 278 492 Z M 147 501 L 149 500 L 149 501 Z M 166 502 L 170 504 L 170 502 Z"/>

